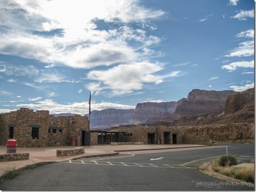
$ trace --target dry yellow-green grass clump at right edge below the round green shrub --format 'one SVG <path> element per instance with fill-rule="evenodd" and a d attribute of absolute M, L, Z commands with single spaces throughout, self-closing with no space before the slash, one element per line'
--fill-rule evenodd
<path fill-rule="evenodd" d="M 246 167 L 246 168 L 237 168 L 234 170 L 234 177 L 238 180 L 244 180 L 247 182 L 254 183 L 254 168 Z"/>

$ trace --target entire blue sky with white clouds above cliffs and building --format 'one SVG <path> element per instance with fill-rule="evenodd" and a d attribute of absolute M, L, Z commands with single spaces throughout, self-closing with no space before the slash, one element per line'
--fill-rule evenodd
<path fill-rule="evenodd" d="M 253 0 L 0 0 L 0 113 L 252 87 Z"/>

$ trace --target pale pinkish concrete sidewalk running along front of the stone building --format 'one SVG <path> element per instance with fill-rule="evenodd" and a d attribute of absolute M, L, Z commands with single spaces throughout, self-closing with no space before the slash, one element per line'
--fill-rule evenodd
<path fill-rule="evenodd" d="M 72 149 L 75 147 L 84 147 L 84 154 L 73 156 L 57 156 L 57 149 Z M 79 157 L 116 155 L 117 152 L 124 151 L 144 151 L 161 149 L 178 149 L 190 147 L 206 147 L 205 145 L 192 144 L 171 144 L 171 145 L 96 145 L 96 146 L 55 146 L 55 147 L 17 147 L 17 153 L 29 153 L 29 159 L 0 162 L 0 177 L 11 169 L 21 169 L 31 164 L 58 162 Z M 6 153 L 6 147 L 0 146 L 0 153 Z"/>

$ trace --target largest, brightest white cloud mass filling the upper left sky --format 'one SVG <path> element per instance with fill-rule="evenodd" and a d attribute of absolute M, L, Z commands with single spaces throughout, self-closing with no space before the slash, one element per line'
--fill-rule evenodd
<path fill-rule="evenodd" d="M 8 29 L 0 33 L 0 53 L 84 69 L 137 61 L 141 52 L 148 55 L 148 51 L 141 49 L 150 50 L 148 46 L 160 39 L 126 24 L 135 22 L 152 29 L 150 21 L 165 14 L 162 10 L 140 6 L 137 0 L 13 0 L 12 3 L 0 2 L 0 12 L 11 18 L 0 18 L 0 25 Z M 122 27 L 98 30 L 98 20 L 122 23 Z M 51 36 L 31 33 L 55 29 L 59 29 L 59 33 Z M 130 47 L 130 41 L 138 45 Z"/>

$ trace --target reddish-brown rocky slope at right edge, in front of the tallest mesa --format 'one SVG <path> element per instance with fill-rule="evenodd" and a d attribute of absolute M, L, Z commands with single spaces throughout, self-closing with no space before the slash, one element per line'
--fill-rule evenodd
<path fill-rule="evenodd" d="M 198 126 L 224 123 L 254 123 L 254 95 L 255 88 L 231 94 L 228 96 L 223 110 L 189 117 L 181 117 L 174 121 L 169 121 L 168 117 L 162 117 L 156 124 L 169 126 Z"/>

